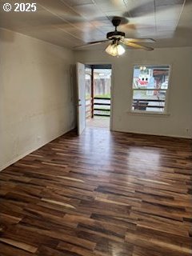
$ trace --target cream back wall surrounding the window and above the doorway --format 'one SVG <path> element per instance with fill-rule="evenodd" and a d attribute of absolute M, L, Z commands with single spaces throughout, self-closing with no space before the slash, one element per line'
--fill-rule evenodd
<path fill-rule="evenodd" d="M 126 50 L 119 58 L 103 50 L 75 53 L 83 63 L 111 63 L 114 75 L 112 130 L 192 138 L 192 48 Z M 168 116 L 130 114 L 134 64 L 171 65 Z"/>

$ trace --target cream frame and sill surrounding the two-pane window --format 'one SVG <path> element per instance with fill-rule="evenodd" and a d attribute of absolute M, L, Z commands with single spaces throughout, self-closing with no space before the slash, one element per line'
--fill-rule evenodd
<path fill-rule="evenodd" d="M 133 110 L 133 100 L 134 100 L 134 88 L 133 88 L 133 81 L 134 81 L 134 68 L 135 66 L 169 66 L 169 78 L 168 78 L 168 88 L 166 90 L 166 98 L 165 98 L 165 107 L 164 111 L 146 111 L 146 110 Z M 131 76 L 131 92 L 130 92 L 130 110 L 128 111 L 130 114 L 152 114 L 152 115 L 170 115 L 168 113 L 168 106 L 169 106 L 169 95 L 170 95 L 170 78 L 171 78 L 171 70 L 172 65 L 170 64 L 146 64 L 146 63 L 135 63 L 133 64 L 132 69 L 132 76 Z M 143 89 L 142 89 L 143 90 Z"/>

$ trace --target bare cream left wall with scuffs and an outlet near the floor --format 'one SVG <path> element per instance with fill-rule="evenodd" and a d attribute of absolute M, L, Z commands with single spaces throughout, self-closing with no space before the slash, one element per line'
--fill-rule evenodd
<path fill-rule="evenodd" d="M 0 30 L 0 170 L 74 127 L 74 52 Z"/>

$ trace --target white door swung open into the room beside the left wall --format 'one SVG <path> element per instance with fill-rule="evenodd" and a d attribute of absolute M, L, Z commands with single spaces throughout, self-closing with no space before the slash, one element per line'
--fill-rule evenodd
<path fill-rule="evenodd" d="M 77 86 L 78 86 L 78 135 L 86 128 L 86 86 L 85 65 L 77 63 Z"/>

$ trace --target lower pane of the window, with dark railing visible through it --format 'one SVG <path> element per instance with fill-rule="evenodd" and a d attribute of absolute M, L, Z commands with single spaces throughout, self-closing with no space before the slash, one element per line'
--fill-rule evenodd
<path fill-rule="evenodd" d="M 163 112 L 166 90 L 134 90 L 132 110 Z"/>

